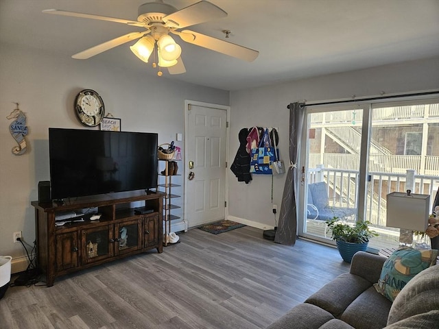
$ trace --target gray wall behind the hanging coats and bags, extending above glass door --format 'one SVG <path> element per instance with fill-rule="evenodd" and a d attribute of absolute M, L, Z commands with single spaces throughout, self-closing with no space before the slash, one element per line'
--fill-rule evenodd
<path fill-rule="evenodd" d="M 230 153 L 233 162 L 239 147 L 242 127 L 278 127 L 281 158 L 288 158 L 287 104 L 292 101 L 324 101 L 376 96 L 381 93 L 411 93 L 439 89 L 439 58 L 379 66 L 373 69 L 325 75 L 273 86 L 230 93 Z M 250 184 L 237 182 L 228 171 L 228 214 L 259 228 L 274 226 L 272 213 L 272 177 L 253 175 Z M 281 206 L 285 175 L 273 178 L 273 203 Z M 278 217 L 276 217 L 278 218 Z"/>

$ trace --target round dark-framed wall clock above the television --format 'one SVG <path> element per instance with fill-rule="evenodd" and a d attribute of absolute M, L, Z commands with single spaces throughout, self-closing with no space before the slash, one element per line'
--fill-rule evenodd
<path fill-rule="evenodd" d="M 95 127 L 105 116 L 104 101 L 95 90 L 84 89 L 76 96 L 75 112 L 83 125 Z"/>

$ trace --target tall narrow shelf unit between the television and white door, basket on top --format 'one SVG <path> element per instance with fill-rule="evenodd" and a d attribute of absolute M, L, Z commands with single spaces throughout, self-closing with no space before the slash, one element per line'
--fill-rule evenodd
<path fill-rule="evenodd" d="M 184 219 L 182 219 L 182 188 L 181 179 L 182 175 L 177 173 L 174 175 L 174 170 L 170 168 L 170 162 L 177 162 L 180 164 L 179 160 L 158 160 L 161 165 L 159 165 L 158 177 L 159 191 L 165 193 L 165 199 L 163 202 L 163 243 L 166 246 L 167 240 L 166 236 L 170 232 L 181 232 L 186 231 L 187 227 Z M 179 166 L 180 171 L 182 171 L 181 164 Z M 178 193 L 178 194 L 176 194 Z"/>

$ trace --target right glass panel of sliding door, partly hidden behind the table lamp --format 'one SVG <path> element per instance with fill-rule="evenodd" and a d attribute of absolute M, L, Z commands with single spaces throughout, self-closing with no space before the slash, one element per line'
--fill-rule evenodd
<path fill-rule="evenodd" d="M 410 189 L 433 202 L 438 191 L 439 103 L 372 104 L 370 126 L 366 218 L 379 233 L 370 245 L 381 249 L 399 244 L 399 228 L 386 223 L 386 195 Z"/>

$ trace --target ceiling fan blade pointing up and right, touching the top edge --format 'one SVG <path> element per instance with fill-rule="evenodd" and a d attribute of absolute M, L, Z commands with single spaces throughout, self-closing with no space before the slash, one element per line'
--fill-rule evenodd
<path fill-rule="evenodd" d="M 166 23 L 174 23 L 175 27 L 181 29 L 182 27 L 204 23 L 213 19 L 220 19 L 225 16 L 227 16 L 227 13 L 213 3 L 200 1 L 163 17 L 163 21 Z"/>

